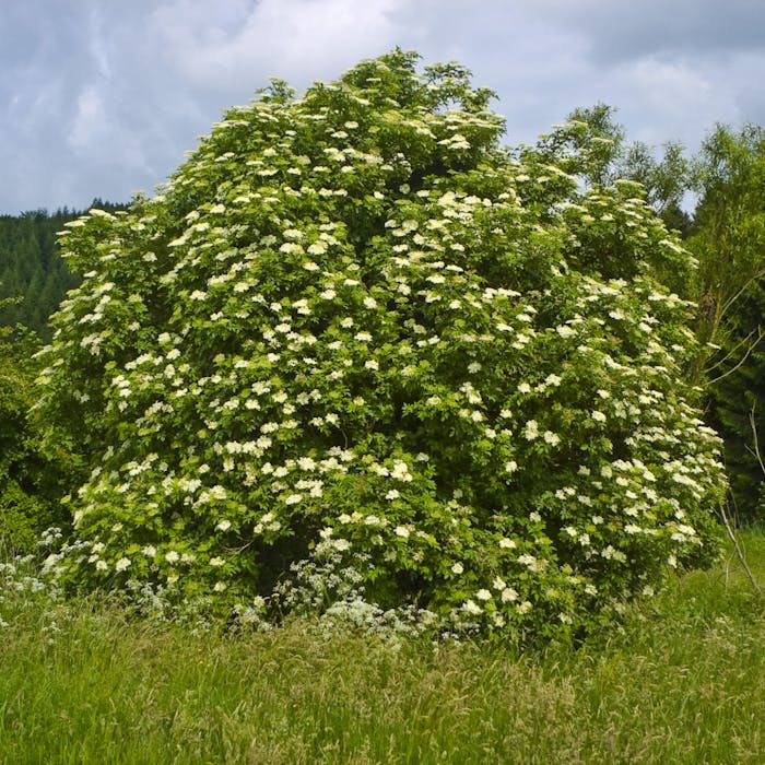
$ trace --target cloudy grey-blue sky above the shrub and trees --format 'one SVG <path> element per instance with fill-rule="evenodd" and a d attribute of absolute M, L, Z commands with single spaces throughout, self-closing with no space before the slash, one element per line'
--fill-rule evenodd
<path fill-rule="evenodd" d="M 0 0 L 0 214 L 151 192 L 224 108 L 396 46 L 494 90 L 507 142 L 576 106 L 695 150 L 765 125 L 763 0 Z"/>

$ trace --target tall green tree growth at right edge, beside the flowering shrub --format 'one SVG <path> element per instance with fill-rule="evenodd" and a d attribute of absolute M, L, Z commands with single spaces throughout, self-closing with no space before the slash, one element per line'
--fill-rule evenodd
<path fill-rule="evenodd" d="M 765 433 L 765 130 L 718 126 L 696 162 L 701 201 L 688 248 L 699 267 L 698 336 L 707 354 L 711 417 L 725 436 L 733 498 L 742 518 L 760 516 Z M 701 373 L 699 373 L 701 374 Z M 754 422 L 752 422 L 754 415 Z M 753 431 L 754 425 L 754 431 Z"/>

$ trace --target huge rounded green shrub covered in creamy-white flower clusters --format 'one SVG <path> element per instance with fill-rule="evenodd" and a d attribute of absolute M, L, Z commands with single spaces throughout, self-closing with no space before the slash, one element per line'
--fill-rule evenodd
<path fill-rule="evenodd" d="M 92 469 L 64 580 L 544 635 L 715 555 L 719 442 L 655 281 L 688 256 L 565 172 L 564 128 L 558 164 L 514 156 L 487 91 L 415 61 L 275 83 L 70 224 L 39 380 Z"/>

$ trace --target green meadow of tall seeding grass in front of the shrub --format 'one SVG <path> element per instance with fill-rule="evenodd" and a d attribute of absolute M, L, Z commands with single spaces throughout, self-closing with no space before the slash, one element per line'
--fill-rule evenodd
<path fill-rule="evenodd" d="M 765 582 L 765 536 L 745 534 Z M 577 650 L 193 635 L 5 592 L 0 762 L 765 762 L 765 620 L 740 564 Z"/>

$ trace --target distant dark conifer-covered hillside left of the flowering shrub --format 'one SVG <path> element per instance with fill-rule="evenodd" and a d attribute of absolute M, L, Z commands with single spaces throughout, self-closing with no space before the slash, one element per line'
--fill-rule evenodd
<path fill-rule="evenodd" d="M 94 199 L 91 207 L 114 212 L 125 204 Z M 43 340 L 50 339 L 48 317 L 67 290 L 80 283 L 58 254 L 56 233 L 82 211 L 63 208 L 54 213 L 33 210 L 21 215 L 0 215 L 0 326 L 24 325 Z"/>

